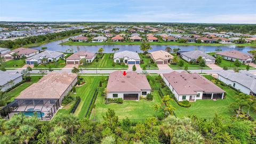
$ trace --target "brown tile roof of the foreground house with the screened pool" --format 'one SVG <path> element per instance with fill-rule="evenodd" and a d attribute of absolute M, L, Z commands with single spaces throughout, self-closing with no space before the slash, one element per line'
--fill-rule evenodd
<path fill-rule="evenodd" d="M 52 72 L 23 90 L 16 99 L 59 99 L 77 74 Z"/>

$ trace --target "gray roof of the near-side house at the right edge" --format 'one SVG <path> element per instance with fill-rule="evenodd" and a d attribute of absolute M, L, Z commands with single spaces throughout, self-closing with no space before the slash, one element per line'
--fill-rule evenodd
<path fill-rule="evenodd" d="M 230 81 L 237 82 L 247 87 L 252 92 L 256 93 L 256 76 L 251 73 L 247 73 L 247 72 L 235 73 L 235 72 L 228 72 L 224 70 L 218 73 L 218 75 L 225 77 Z"/>

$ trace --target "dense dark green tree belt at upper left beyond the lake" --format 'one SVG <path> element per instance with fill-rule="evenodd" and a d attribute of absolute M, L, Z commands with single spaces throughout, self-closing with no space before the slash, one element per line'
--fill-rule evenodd
<path fill-rule="evenodd" d="M 18 38 L 18 39 L 15 39 L 14 41 L 11 41 L 11 40 L 0 41 L 0 47 L 16 49 L 18 47 L 22 47 L 23 45 L 27 45 L 27 44 L 50 42 L 53 39 L 59 39 L 61 37 L 71 36 L 76 33 L 81 33 L 81 31 L 82 31 L 81 29 L 67 30 L 67 31 L 62 31 L 60 33 L 51 33 L 46 35 Z"/>

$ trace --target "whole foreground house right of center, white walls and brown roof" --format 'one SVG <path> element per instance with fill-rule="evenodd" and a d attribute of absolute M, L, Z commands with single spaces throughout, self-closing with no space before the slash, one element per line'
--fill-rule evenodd
<path fill-rule="evenodd" d="M 197 73 L 189 74 L 187 71 L 181 73 L 172 71 L 163 74 L 163 79 L 178 101 L 223 99 L 225 93 L 220 87 Z"/>

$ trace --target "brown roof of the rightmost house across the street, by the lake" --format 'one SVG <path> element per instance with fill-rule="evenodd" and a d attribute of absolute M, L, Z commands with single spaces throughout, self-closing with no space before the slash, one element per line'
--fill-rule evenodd
<path fill-rule="evenodd" d="M 223 52 L 217 52 L 215 54 L 224 55 L 226 57 L 241 59 L 241 60 L 247 60 L 249 58 L 252 58 L 251 55 L 247 55 L 245 53 L 239 52 L 239 51 L 223 51 Z"/>

